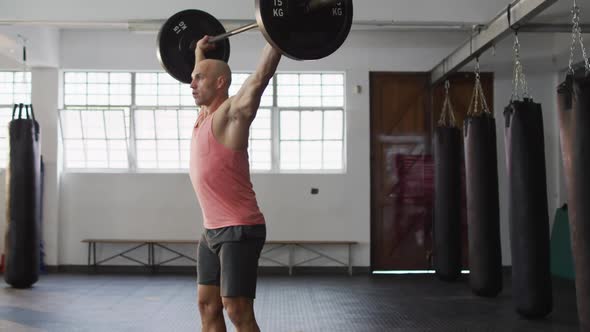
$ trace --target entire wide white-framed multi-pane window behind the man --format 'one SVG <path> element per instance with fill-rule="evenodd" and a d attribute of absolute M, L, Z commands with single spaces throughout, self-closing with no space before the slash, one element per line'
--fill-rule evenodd
<path fill-rule="evenodd" d="M 249 75 L 232 74 L 230 96 Z M 198 115 L 188 85 L 167 73 L 114 72 L 66 72 L 64 85 L 66 168 L 188 168 Z M 343 171 L 344 128 L 343 74 L 279 73 L 250 128 L 251 170 Z"/>

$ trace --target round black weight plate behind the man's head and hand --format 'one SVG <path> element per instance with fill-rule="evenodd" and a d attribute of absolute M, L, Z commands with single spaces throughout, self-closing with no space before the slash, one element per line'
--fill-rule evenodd
<path fill-rule="evenodd" d="M 225 33 L 221 23 L 209 13 L 188 9 L 172 15 L 158 32 L 158 60 L 162 67 L 175 79 L 191 82 L 195 67 L 194 45 L 203 36 L 217 36 Z M 229 59 L 229 40 L 216 43 L 216 48 L 205 56 L 208 59 Z"/>

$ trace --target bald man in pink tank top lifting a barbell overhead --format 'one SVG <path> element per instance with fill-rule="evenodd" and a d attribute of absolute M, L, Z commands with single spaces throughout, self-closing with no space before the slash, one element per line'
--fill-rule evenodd
<path fill-rule="evenodd" d="M 202 329 L 225 331 L 225 308 L 238 331 L 259 331 L 253 299 L 266 226 L 250 182 L 247 147 L 250 124 L 281 54 L 267 44 L 256 71 L 228 97 L 229 66 L 205 58 L 215 47 L 208 39 L 197 43 L 191 82 L 201 108 L 193 129 L 190 178 L 205 226 L 197 258 Z"/>

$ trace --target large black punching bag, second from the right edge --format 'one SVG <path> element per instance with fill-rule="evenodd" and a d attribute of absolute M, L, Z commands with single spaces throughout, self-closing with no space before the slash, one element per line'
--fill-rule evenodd
<path fill-rule="evenodd" d="M 519 314 L 540 318 L 553 307 L 541 104 L 514 100 L 504 117 L 513 300 Z"/>

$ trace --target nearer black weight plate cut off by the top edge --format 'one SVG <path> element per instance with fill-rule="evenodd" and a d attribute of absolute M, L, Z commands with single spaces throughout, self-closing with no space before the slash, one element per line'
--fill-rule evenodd
<path fill-rule="evenodd" d="M 335 0 L 306 12 L 309 2 L 256 0 L 256 21 L 264 37 L 291 59 L 313 60 L 332 54 L 352 26 L 352 0 Z"/>

